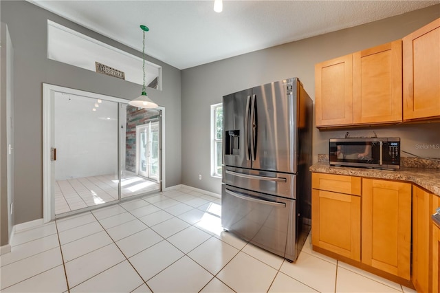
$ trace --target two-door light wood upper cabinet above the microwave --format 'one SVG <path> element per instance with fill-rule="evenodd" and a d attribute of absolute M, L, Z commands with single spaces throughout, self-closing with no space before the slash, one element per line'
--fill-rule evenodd
<path fill-rule="evenodd" d="M 401 122 L 401 40 L 315 65 L 316 127 Z"/>

